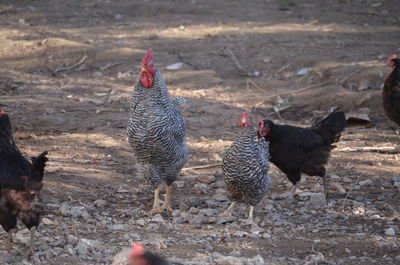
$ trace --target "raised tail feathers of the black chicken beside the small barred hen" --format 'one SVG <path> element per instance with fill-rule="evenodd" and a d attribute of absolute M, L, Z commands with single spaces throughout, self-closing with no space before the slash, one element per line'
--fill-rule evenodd
<path fill-rule="evenodd" d="M 339 141 L 340 133 L 346 127 L 346 117 L 342 111 L 336 108 L 326 118 L 317 120 L 313 126 L 326 141 L 327 144 L 332 144 Z"/>

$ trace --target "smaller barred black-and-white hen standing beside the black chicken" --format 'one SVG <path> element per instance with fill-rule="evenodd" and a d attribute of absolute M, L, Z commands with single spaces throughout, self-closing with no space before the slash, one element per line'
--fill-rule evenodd
<path fill-rule="evenodd" d="M 228 197 L 232 201 L 221 215 L 227 215 L 236 202 L 250 205 L 248 221 L 253 220 L 254 206 L 261 201 L 272 183 L 267 175 L 269 169 L 268 142 L 257 139 L 253 123 L 243 112 L 232 145 L 222 154 L 222 171 Z"/>

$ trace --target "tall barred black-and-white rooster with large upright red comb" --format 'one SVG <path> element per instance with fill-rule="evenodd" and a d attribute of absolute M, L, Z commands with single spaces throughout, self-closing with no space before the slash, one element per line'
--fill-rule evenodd
<path fill-rule="evenodd" d="M 172 211 L 171 184 L 188 159 L 185 121 L 180 111 L 182 98 L 170 99 L 161 73 L 154 69 L 154 54 L 147 51 L 142 60 L 140 78 L 132 94 L 128 122 L 128 139 L 139 173 L 155 188 L 150 214 Z M 166 192 L 160 208 L 160 185 Z"/>

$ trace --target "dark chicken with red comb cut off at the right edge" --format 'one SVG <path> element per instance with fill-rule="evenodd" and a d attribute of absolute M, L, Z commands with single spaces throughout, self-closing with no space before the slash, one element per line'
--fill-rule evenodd
<path fill-rule="evenodd" d="M 393 55 L 389 59 L 392 72 L 385 80 L 382 98 L 386 116 L 400 126 L 400 59 Z"/>

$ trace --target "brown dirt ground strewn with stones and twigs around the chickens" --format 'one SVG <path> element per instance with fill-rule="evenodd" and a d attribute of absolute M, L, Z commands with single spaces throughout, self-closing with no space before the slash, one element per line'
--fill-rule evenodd
<path fill-rule="evenodd" d="M 399 12 L 397 0 L 0 1 L 0 108 L 27 157 L 50 157 L 33 261 L 3 230 L 0 261 L 111 264 L 141 240 L 176 264 L 400 263 L 391 183 L 400 155 L 379 152 L 399 141 L 380 96 L 387 59 L 400 53 Z M 152 190 L 126 137 L 149 47 L 171 96 L 189 100 L 190 159 L 174 186 L 177 210 L 161 220 L 145 215 Z M 328 205 L 306 196 L 322 181 L 305 176 L 304 196 L 290 203 L 290 182 L 271 166 L 256 225 L 241 223 L 244 205 L 219 222 L 229 204 L 222 179 L 199 181 L 218 166 L 190 167 L 220 163 L 240 113 L 308 126 L 334 107 L 371 122 L 346 128 L 332 152 Z"/>

